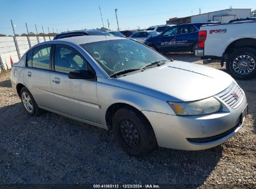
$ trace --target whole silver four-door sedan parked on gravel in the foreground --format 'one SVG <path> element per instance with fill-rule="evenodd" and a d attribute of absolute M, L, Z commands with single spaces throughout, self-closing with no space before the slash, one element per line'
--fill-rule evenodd
<path fill-rule="evenodd" d="M 14 64 L 11 82 L 31 116 L 47 110 L 111 129 L 136 157 L 158 146 L 201 150 L 222 144 L 247 114 L 244 91 L 223 71 L 172 62 L 120 37 L 37 44 Z"/>

